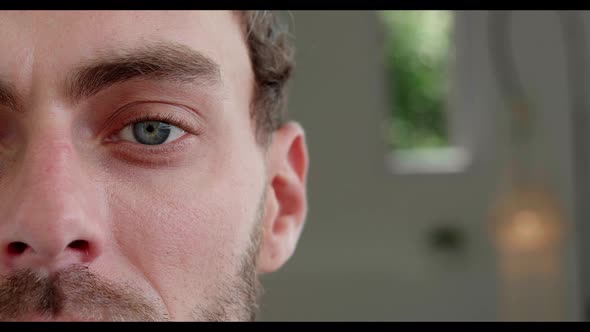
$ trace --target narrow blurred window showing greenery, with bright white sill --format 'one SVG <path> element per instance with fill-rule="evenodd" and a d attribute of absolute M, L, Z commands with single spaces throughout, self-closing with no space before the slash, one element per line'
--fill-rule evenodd
<path fill-rule="evenodd" d="M 454 56 L 451 11 L 380 11 L 392 107 L 387 144 L 396 171 L 462 169 L 465 153 L 451 145 L 447 123 Z"/>

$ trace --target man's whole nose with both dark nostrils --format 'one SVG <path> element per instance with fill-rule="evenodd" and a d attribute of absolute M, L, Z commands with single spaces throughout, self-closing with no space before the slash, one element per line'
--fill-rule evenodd
<path fill-rule="evenodd" d="M 29 144 L 3 174 L 0 272 L 88 265 L 103 250 L 100 195 L 72 144 Z"/>

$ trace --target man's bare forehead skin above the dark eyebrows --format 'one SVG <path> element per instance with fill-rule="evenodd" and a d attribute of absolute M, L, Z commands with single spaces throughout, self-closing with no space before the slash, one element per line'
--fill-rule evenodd
<path fill-rule="evenodd" d="M 3 11 L 0 76 L 25 89 L 31 79 L 57 79 L 82 60 L 154 41 L 196 49 L 222 72 L 248 64 L 240 24 L 229 11 Z"/>

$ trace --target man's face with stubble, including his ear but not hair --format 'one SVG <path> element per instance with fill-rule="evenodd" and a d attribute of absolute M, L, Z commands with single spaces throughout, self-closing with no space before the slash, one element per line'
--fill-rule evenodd
<path fill-rule="evenodd" d="M 0 319 L 248 320 L 307 155 L 229 12 L 0 13 Z"/>

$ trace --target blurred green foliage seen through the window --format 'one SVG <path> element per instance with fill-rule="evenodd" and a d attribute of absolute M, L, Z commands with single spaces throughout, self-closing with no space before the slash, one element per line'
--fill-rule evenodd
<path fill-rule="evenodd" d="M 451 54 L 449 11 L 381 11 L 392 88 L 391 144 L 448 145 L 445 117 Z"/>

